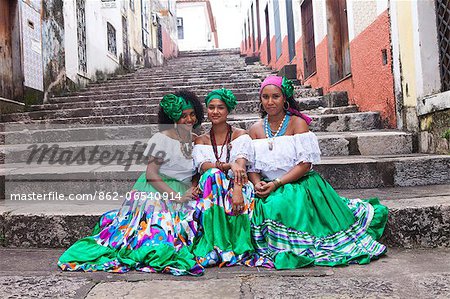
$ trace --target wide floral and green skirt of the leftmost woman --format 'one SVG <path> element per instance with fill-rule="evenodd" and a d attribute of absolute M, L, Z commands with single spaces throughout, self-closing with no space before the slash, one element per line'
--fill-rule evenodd
<path fill-rule="evenodd" d="M 175 179 L 163 179 L 181 194 L 188 188 Z M 202 274 L 203 267 L 190 252 L 197 234 L 193 220 L 196 202 L 157 200 L 157 193 L 143 173 L 122 207 L 103 214 L 92 235 L 67 249 L 58 266 L 66 271 L 124 273 L 135 269 L 173 275 Z"/>

